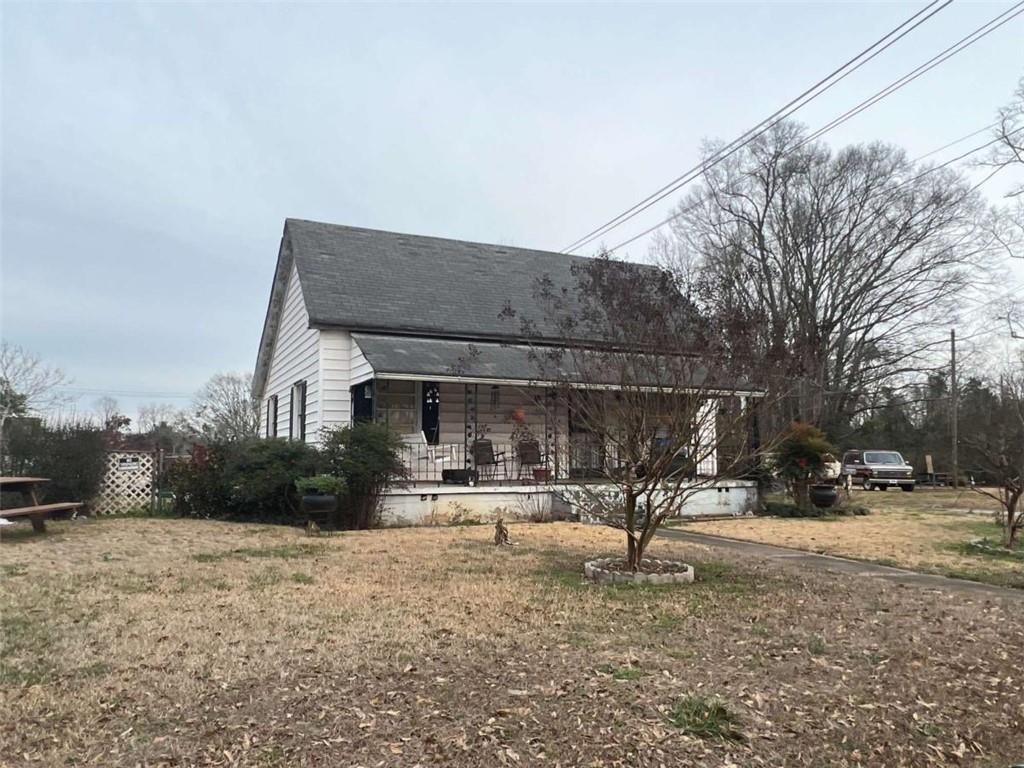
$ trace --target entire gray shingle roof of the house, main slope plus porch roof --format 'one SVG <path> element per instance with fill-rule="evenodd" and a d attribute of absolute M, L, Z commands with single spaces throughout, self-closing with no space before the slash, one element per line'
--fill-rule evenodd
<path fill-rule="evenodd" d="M 538 282 L 548 279 L 556 291 L 573 289 L 573 266 L 588 261 L 527 248 L 288 219 L 253 390 L 261 393 L 266 380 L 293 262 L 310 326 L 365 332 L 357 338 L 360 347 L 366 342 L 364 352 L 376 372 L 452 375 L 465 365 L 466 340 L 473 340 L 482 354 L 469 361 L 464 378 L 528 381 L 538 373 L 529 347 L 512 343 L 524 340 L 522 321 L 534 324 L 528 334 L 534 343 L 557 344 L 560 337 L 546 322 Z M 514 317 L 503 316 L 507 305 L 516 310 Z"/>

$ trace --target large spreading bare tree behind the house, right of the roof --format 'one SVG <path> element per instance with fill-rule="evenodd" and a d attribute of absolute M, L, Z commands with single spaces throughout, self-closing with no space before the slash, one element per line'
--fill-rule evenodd
<path fill-rule="evenodd" d="M 934 365 L 939 327 L 996 244 L 957 173 L 922 175 L 886 144 L 833 153 L 804 136 L 779 124 L 707 171 L 657 255 L 696 261 L 694 296 L 749 322 L 773 388 L 796 383 L 772 426 L 836 434 L 870 393 Z"/>

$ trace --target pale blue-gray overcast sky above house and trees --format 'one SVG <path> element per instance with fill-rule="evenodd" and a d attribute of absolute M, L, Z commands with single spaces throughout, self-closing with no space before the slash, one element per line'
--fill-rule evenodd
<path fill-rule="evenodd" d="M 558 250 L 922 5 L 4 3 L 0 330 L 82 410 L 185 404 L 252 369 L 286 217 Z M 1009 6 L 954 3 L 799 117 Z M 930 152 L 1022 74 L 1024 16 L 828 139 Z"/>

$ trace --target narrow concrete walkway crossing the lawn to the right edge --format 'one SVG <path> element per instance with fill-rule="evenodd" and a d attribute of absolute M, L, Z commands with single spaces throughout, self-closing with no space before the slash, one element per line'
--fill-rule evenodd
<path fill-rule="evenodd" d="M 765 560 L 786 560 L 809 568 L 817 568 L 818 570 L 830 570 L 840 573 L 851 573 L 853 575 L 885 579 L 896 584 L 950 592 L 963 595 L 964 597 L 1008 598 L 1024 602 L 1024 590 L 1013 589 L 1011 587 L 996 587 L 990 584 L 969 582 L 963 579 L 948 579 L 932 573 L 919 573 L 913 570 L 893 568 L 889 565 L 879 565 L 862 560 L 849 560 L 845 557 L 836 557 L 835 555 L 818 555 L 813 552 L 790 549 L 788 547 L 744 542 L 738 539 L 712 536 L 711 534 L 694 534 L 689 530 L 680 530 L 679 528 L 662 527 L 658 529 L 657 535 L 675 541 L 692 542 L 693 544 L 702 544 L 708 547 L 728 549 Z"/>

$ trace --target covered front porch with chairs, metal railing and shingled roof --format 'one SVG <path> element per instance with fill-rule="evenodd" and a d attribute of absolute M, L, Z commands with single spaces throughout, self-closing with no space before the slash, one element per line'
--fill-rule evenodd
<path fill-rule="evenodd" d="M 373 334 L 352 338 L 359 353 L 352 418 L 383 422 L 402 436 L 402 461 L 413 486 L 607 482 L 628 469 L 613 440 L 573 418 L 580 402 L 574 395 L 566 397 L 556 385 L 531 379 L 531 349 L 525 345 Z M 579 393 L 617 396 L 610 383 L 581 383 Z M 692 478 L 719 473 L 715 414 L 730 397 L 736 399 L 709 393 L 710 418 L 699 419 L 694 434 L 686 437 L 689 455 L 699 457 L 684 470 Z M 658 421 L 656 414 L 651 421 Z"/>

